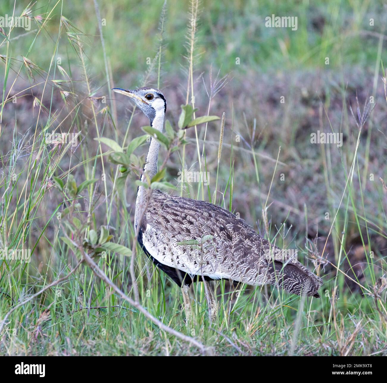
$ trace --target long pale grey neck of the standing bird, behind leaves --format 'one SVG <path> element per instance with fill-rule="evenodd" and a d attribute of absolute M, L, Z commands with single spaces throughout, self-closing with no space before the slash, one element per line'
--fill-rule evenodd
<path fill-rule="evenodd" d="M 153 121 L 151 121 L 152 128 L 157 129 L 159 132 L 163 131 L 164 126 L 164 110 L 156 112 L 156 116 Z M 149 179 L 157 173 L 157 160 L 159 157 L 159 148 L 160 144 L 155 138 L 151 138 L 151 143 L 149 144 L 148 154 L 146 156 L 146 163 L 144 166 L 144 173 L 141 176 L 141 181 L 144 183 L 148 183 L 147 176 Z M 139 186 L 137 189 L 137 198 L 136 198 L 136 210 L 134 216 L 134 227 L 137 228 L 137 224 L 139 223 L 140 215 L 142 210 L 146 206 L 147 202 L 147 190 L 142 186 Z"/>

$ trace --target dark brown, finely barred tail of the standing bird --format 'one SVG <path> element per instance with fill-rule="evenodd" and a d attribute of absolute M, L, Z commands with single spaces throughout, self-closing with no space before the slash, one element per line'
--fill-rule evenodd
<path fill-rule="evenodd" d="M 320 298 L 318 290 L 322 285 L 322 279 L 298 261 L 288 263 L 271 261 L 268 273 L 271 275 L 269 282 L 271 285 L 279 286 L 292 294 Z"/>

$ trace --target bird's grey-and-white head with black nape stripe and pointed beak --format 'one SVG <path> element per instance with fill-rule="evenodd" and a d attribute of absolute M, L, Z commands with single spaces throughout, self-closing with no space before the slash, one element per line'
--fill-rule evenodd
<path fill-rule="evenodd" d="M 167 109 L 165 97 L 161 91 L 153 88 L 122 89 L 113 88 L 116 93 L 130 97 L 152 122 L 156 117 L 163 117 Z"/>

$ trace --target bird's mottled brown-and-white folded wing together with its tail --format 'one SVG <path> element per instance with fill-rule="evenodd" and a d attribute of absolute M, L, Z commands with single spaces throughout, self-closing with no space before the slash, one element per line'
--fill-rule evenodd
<path fill-rule="evenodd" d="M 273 247 L 228 210 L 208 202 L 152 192 L 141 223 L 144 246 L 159 262 L 188 274 L 230 278 L 250 285 L 270 283 L 308 295 L 320 281 L 295 260 L 270 258 Z"/>

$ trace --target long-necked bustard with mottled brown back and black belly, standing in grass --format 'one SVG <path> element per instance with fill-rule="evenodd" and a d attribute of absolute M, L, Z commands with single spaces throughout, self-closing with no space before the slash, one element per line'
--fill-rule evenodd
<path fill-rule="evenodd" d="M 163 131 L 166 100 L 161 91 L 113 90 L 130 97 L 149 118 L 151 126 Z M 159 147 L 159 142 L 151 139 L 141 176 L 143 182 L 147 182 L 145 173 L 149 179 L 157 173 Z M 281 249 L 261 238 L 243 219 L 217 205 L 139 186 L 135 229 L 138 225 L 138 242 L 144 252 L 181 287 L 187 322 L 192 320 L 188 289 L 193 281 L 205 283 L 212 320 L 217 316 L 217 301 L 209 281 L 214 279 L 276 285 L 290 293 L 319 297 L 321 278 L 296 259 L 277 256 L 282 254 Z M 182 244 L 187 240 L 200 241 L 204 236 L 212 240 L 205 252 Z"/>

